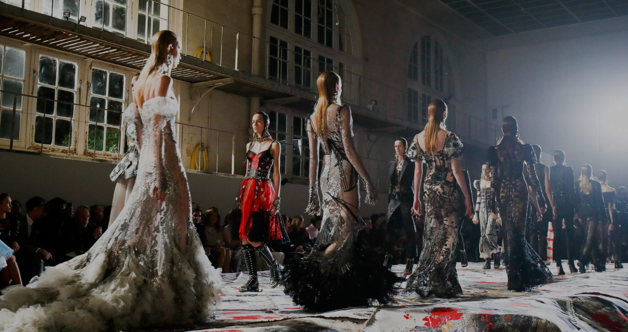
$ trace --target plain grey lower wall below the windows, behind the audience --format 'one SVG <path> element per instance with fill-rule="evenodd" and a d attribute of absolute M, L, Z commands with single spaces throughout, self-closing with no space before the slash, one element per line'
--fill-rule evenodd
<path fill-rule="evenodd" d="M 111 205 L 115 184 L 109 180 L 109 173 L 114 168 L 113 163 L 5 151 L 0 152 L 0 160 L 5 165 L 0 192 L 8 192 L 23 207 L 33 196 L 46 200 L 61 197 L 73 202 L 74 207 Z M 202 209 L 218 207 L 224 216 L 234 207 L 242 178 L 188 172 L 188 182 L 195 204 L 200 204 Z M 362 205 L 362 215 L 386 212 L 386 197 L 380 194 L 379 199 L 377 205 Z M 281 200 L 281 213 L 290 217 L 304 215 L 308 187 L 286 184 L 281 187 Z"/>

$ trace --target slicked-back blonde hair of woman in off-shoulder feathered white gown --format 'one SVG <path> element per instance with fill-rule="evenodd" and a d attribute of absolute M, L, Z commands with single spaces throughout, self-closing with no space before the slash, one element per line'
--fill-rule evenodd
<path fill-rule="evenodd" d="M 161 30 L 153 34 L 153 38 L 151 38 L 151 55 L 148 57 L 148 60 L 146 60 L 146 65 L 142 68 L 138 80 L 134 84 L 138 91 L 139 107 L 142 107 L 144 101 L 146 101 L 144 88 L 148 76 L 156 70 L 169 71 L 171 69 L 164 68 L 168 67 L 168 65 L 166 65 L 169 53 L 168 46 L 171 46 L 171 49 L 175 49 L 178 43 L 178 37 L 170 30 Z"/>

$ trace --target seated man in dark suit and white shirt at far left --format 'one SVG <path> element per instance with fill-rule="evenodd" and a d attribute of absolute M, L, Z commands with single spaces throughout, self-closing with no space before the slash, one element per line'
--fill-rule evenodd
<path fill-rule="evenodd" d="M 18 244 L 19 250 L 15 252 L 18 261 L 19 273 L 22 284 L 26 286 L 34 276 L 39 276 L 43 271 L 43 261 L 52 259 L 50 252 L 35 246 L 31 234 L 33 224 L 45 215 L 44 206 L 46 200 L 41 197 L 33 197 L 26 202 L 26 214 L 19 218 Z"/>

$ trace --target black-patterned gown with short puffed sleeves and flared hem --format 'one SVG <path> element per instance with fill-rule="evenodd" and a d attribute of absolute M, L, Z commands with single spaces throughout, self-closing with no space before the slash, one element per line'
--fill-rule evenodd
<path fill-rule="evenodd" d="M 425 162 L 427 172 L 423 184 L 425 223 L 423 248 L 418 267 L 408 278 L 404 293 L 421 297 L 435 295 L 452 298 L 462 294 L 456 272 L 456 247 L 460 223 L 460 197 L 452 174 L 452 159 L 460 158 L 463 145 L 455 133 L 447 133 L 443 149 L 428 155 L 414 137 L 408 157 Z"/>

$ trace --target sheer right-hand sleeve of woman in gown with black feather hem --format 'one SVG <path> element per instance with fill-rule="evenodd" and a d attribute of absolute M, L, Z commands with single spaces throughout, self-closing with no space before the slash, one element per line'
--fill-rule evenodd
<path fill-rule="evenodd" d="M 373 186 L 373 182 L 371 181 L 371 177 L 369 173 L 366 171 L 364 164 L 362 163 L 362 159 L 357 152 L 355 151 L 355 145 L 353 140 L 353 118 L 351 117 L 351 110 L 349 106 L 342 105 L 337 110 L 338 113 L 338 122 L 340 124 L 340 135 L 342 135 L 342 145 L 345 148 L 345 153 L 347 154 L 347 159 L 355 170 L 357 174 L 360 175 L 360 178 L 364 181 L 364 185 L 366 187 L 366 199 L 364 202 L 366 204 L 374 204 L 376 200 L 376 191 Z"/>

